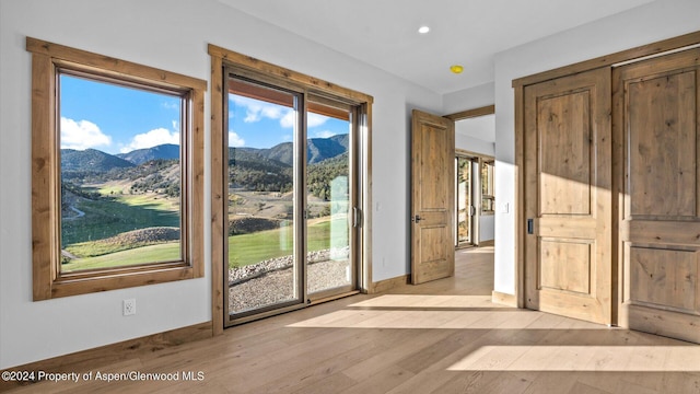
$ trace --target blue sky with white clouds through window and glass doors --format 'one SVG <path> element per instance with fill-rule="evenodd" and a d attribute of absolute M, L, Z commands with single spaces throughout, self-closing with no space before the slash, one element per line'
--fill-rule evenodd
<path fill-rule="evenodd" d="M 231 147 L 270 148 L 291 141 L 293 112 L 252 99 L 230 100 Z M 116 154 L 179 143 L 179 97 L 90 81 L 60 80 L 61 149 Z M 308 114 L 308 138 L 348 132 L 348 123 Z"/>

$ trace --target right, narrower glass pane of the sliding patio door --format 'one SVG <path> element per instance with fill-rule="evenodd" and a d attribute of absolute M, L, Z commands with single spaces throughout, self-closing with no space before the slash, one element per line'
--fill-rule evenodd
<path fill-rule="evenodd" d="M 350 239 L 351 114 L 311 102 L 307 113 L 307 278 L 308 292 L 340 289 L 353 283 Z"/>

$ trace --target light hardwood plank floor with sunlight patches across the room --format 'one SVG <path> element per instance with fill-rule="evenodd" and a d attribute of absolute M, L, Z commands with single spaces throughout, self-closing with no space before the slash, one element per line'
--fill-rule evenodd
<path fill-rule="evenodd" d="M 456 258 L 451 279 L 328 302 L 98 369 L 179 381 L 43 382 L 15 392 L 700 393 L 700 346 L 493 304 L 493 247 Z M 203 380 L 185 382 L 183 371 Z"/>

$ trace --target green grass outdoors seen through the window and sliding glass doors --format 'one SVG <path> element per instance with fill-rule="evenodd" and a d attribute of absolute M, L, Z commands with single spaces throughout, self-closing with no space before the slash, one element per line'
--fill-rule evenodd
<path fill-rule="evenodd" d="M 77 256 L 61 266 L 61 270 L 81 270 L 130 266 L 143 263 L 179 259 L 179 243 L 168 242 L 124 251 L 124 245 L 112 247 L 96 242 L 128 231 L 151 227 L 179 227 L 177 199 L 153 195 L 121 195 L 114 187 L 96 189 L 110 199 L 81 200 L 75 208 L 85 215 L 62 220 L 63 248 Z M 343 220 L 345 223 L 345 220 Z M 341 224 L 342 225 L 342 224 Z M 330 218 L 308 222 L 308 251 L 330 247 Z M 247 266 L 261 260 L 288 256 L 292 250 L 292 227 L 260 231 L 229 237 L 229 265 Z"/>

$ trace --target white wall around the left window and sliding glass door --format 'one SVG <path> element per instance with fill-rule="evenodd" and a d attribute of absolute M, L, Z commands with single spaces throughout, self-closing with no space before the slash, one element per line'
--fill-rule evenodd
<path fill-rule="evenodd" d="M 0 369 L 211 320 L 206 277 L 49 301 L 32 301 L 32 36 L 209 80 L 215 44 L 374 96 L 374 280 L 408 273 L 408 124 L 442 97 L 214 0 L 0 1 Z M 206 113 L 209 113 L 207 94 Z M 209 117 L 206 117 L 207 158 Z M 392 154 L 385 154 L 392 152 Z M 209 159 L 205 201 L 210 200 Z M 206 216 L 210 215 L 207 204 Z M 206 244 L 210 244 L 210 229 Z M 138 314 L 121 316 L 135 298 Z"/>

